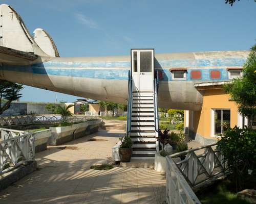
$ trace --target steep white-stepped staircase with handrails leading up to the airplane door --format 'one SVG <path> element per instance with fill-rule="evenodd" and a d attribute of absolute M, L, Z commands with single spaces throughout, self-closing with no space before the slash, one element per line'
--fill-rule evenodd
<path fill-rule="evenodd" d="M 158 151 L 157 77 L 154 82 L 154 91 L 132 91 L 133 79 L 130 77 L 127 134 L 133 141 L 133 159 L 154 159 Z"/>

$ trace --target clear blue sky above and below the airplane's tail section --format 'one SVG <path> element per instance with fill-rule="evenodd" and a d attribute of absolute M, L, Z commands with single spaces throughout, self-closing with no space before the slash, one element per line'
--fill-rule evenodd
<path fill-rule="evenodd" d="M 225 0 L 9 0 L 30 33 L 46 30 L 60 57 L 245 50 L 256 43 L 256 3 Z M 25 86 L 20 101 L 72 102 L 67 94 Z"/>

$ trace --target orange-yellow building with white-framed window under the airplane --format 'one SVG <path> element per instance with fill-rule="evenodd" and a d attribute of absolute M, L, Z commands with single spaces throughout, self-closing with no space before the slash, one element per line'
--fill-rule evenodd
<path fill-rule="evenodd" d="M 223 85 L 227 82 L 195 84 L 203 95 L 200 111 L 184 112 L 185 133 L 203 145 L 215 143 L 227 127 L 242 127 L 242 115 Z M 247 120 L 245 119 L 245 125 Z"/>

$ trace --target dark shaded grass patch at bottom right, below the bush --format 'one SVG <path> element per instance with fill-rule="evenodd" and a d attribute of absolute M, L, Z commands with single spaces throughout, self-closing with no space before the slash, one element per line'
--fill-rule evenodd
<path fill-rule="evenodd" d="M 197 196 L 202 204 L 249 204 L 239 199 L 236 193 L 229 191 L 225 182 L 212 185 L 207 192 L 200 192 Z"/>

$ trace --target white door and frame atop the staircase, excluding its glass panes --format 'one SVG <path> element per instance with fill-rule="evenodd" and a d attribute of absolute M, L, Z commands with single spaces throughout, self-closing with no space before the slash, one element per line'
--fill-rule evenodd
<path fill-rule="evenodd" d="M 134 53 L 137 52 L 137 71 L 134 71 Z M 152 53 L 151 72 L 141 72 L 140 53 Z M 133 91 L 154 91 L 154 49 L 131 49 L 131 72 L 133 77 Z"/>

